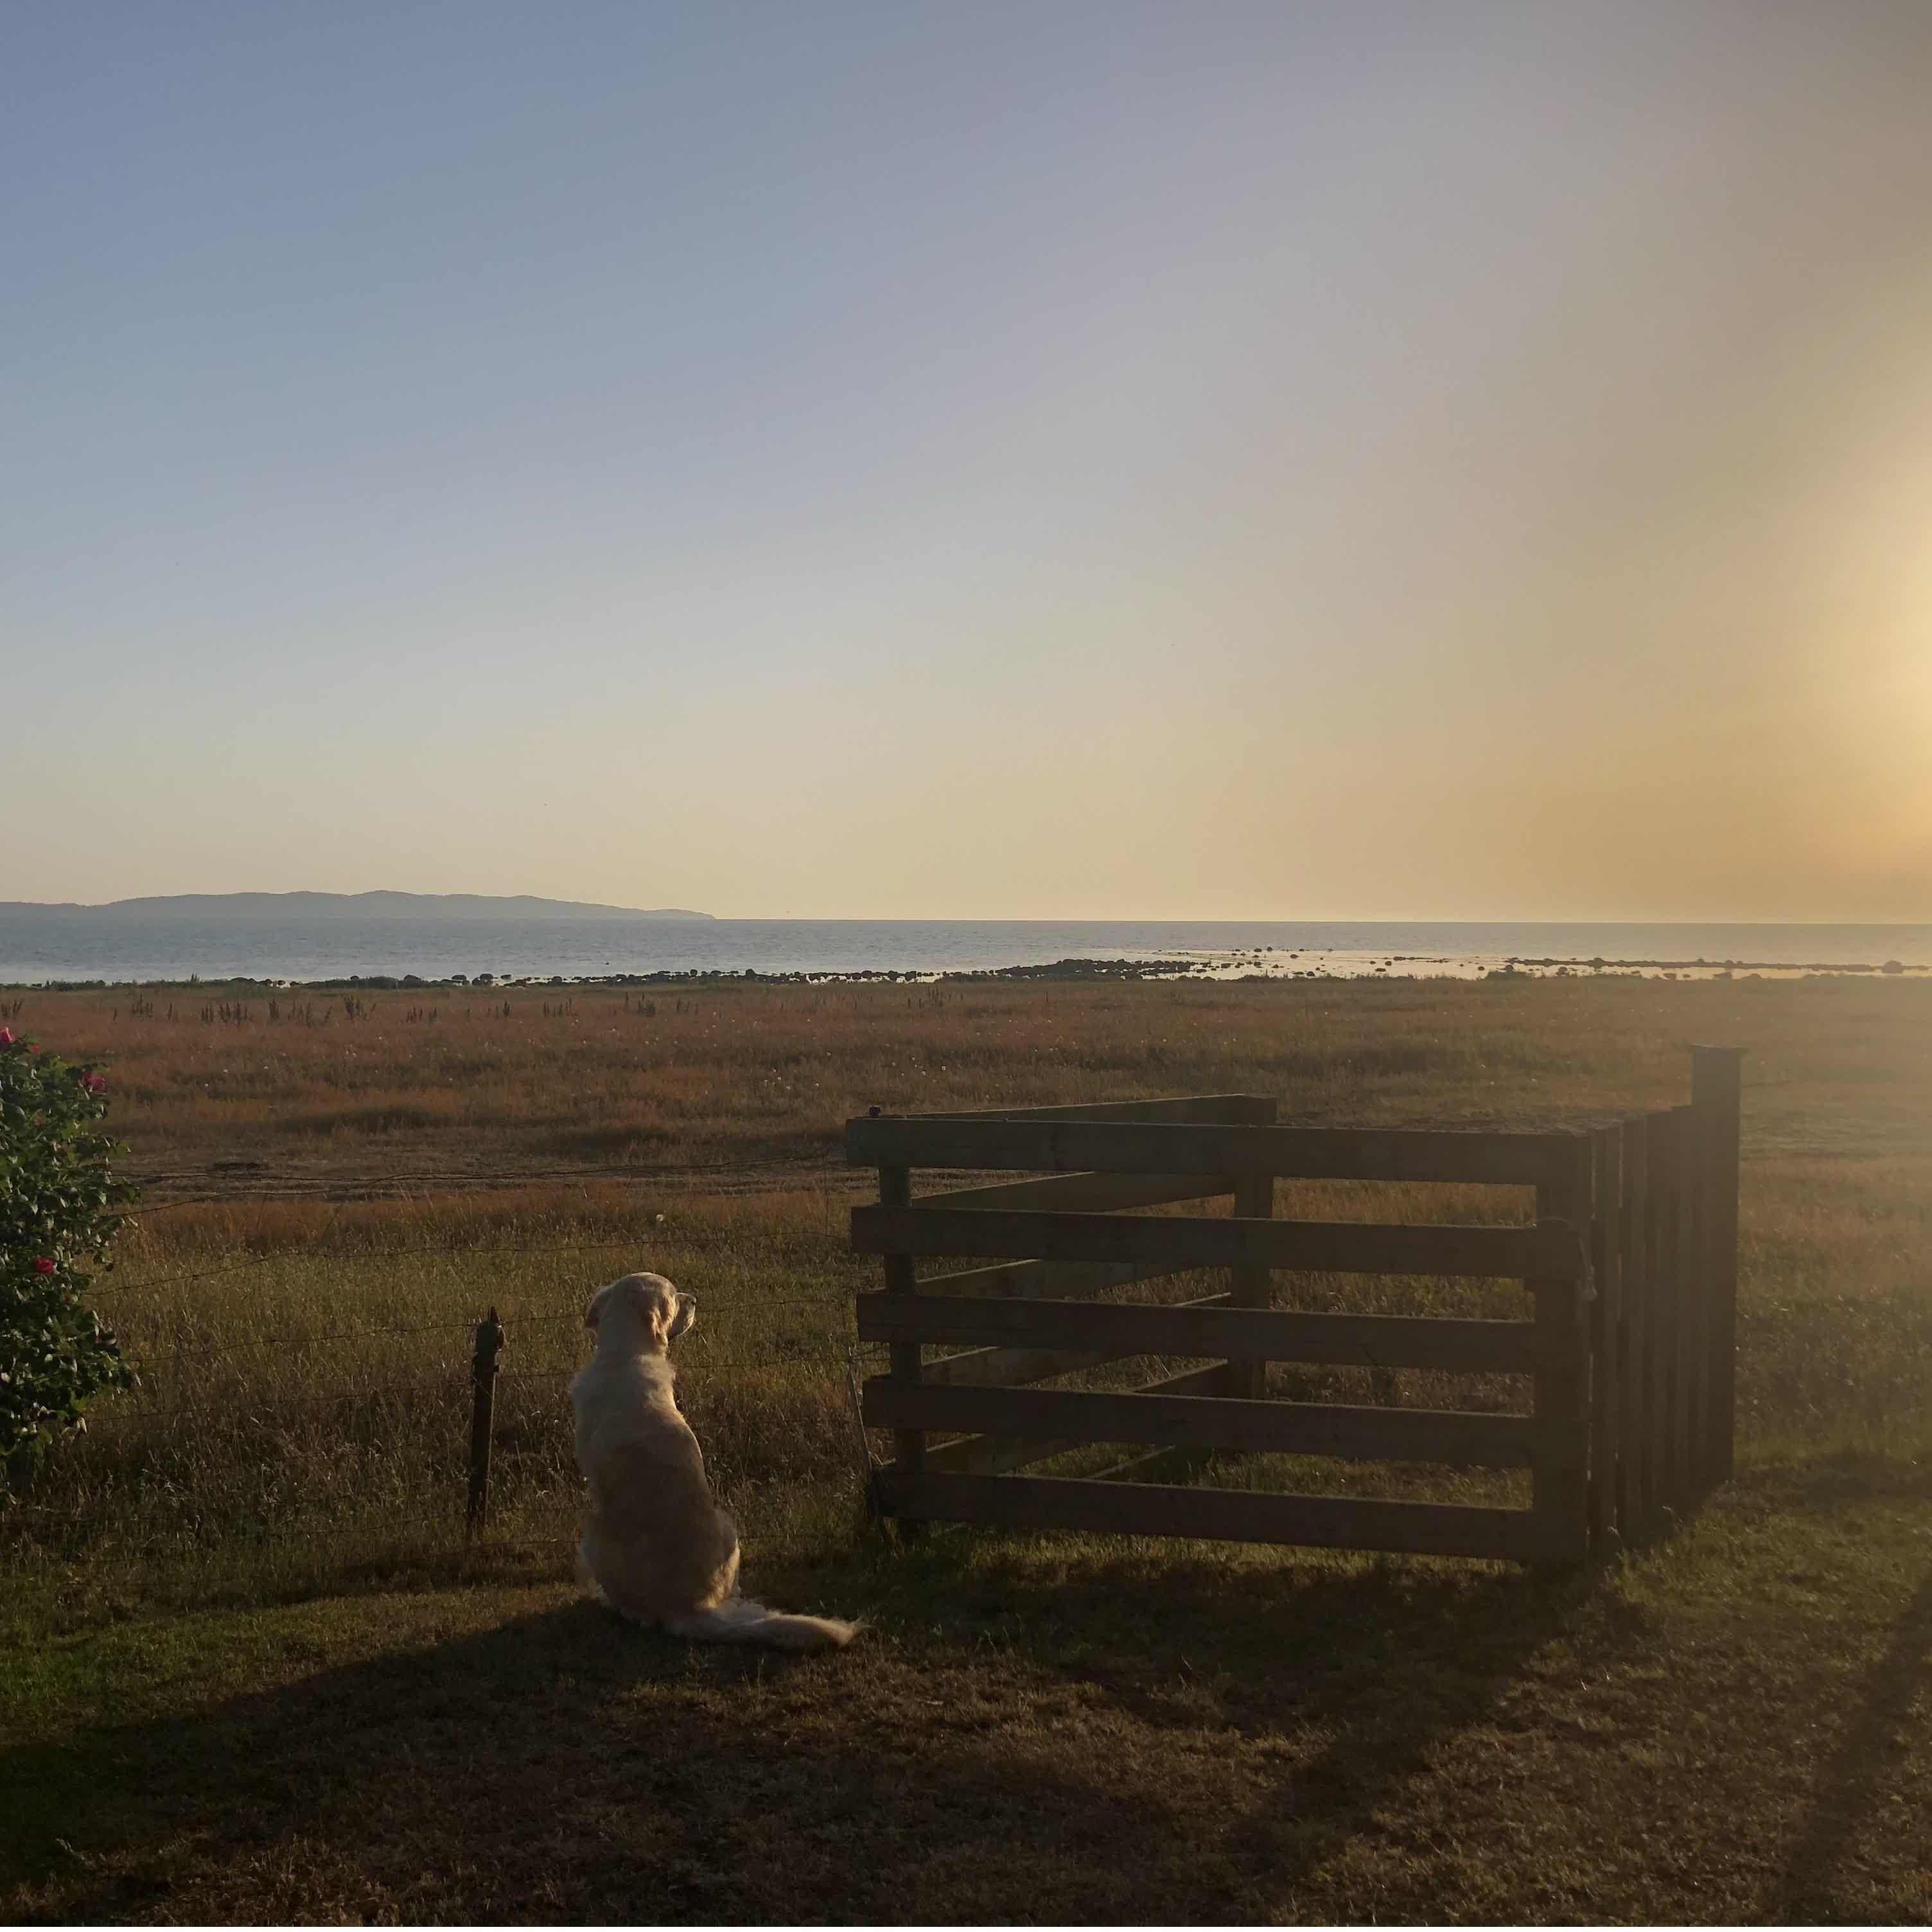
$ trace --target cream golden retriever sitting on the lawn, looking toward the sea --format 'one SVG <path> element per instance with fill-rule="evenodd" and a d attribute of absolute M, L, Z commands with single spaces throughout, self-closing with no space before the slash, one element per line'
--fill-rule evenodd
<path fill-rule="evenodd" d="M 792 1617 L 738 1594 L 738 1526 L 711 1501 L 705 1459 L 678 1414 L 670 1345 L 697 1302 L 663 1275 L 624 1275 L 591 1296 L 597 1352 L 570 1383 L 589 1513 L 578 1577 L 639 1623 L 724 1644 L 819 1650 L 856 1623 Z"/>

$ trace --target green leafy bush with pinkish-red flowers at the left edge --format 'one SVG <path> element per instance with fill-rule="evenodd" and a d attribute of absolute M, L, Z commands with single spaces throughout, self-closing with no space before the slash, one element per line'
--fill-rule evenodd
<path fill-rule="evenodd" d="M 100 1074 L 0 1026 L 0 1470 L 17 1470 L 79 1428 L 91 1397 L 133 1379 L 85 1302 L 114 1265 L 120 1211 L 137 1192 L 114 1177 L 106 1111 Z"/>

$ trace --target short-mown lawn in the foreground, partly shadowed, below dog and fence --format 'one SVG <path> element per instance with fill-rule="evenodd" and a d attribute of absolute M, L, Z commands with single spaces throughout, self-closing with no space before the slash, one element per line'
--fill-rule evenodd
<path fill-rule="evenodd" d="M 1932 1913 L 1918 1476 L 1758 1468 L 1567 1584 L 952 1530 L 765 1582 L 873 1629 L 701 1650 L 460 1569 L 43 1629 L 10 1917 Z"/>

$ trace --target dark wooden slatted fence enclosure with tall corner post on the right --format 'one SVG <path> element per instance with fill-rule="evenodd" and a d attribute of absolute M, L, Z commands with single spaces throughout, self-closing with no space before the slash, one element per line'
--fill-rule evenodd
<path fill-rule="evenodd" d="M 1580 1132 L 1283 1126 L 1248 1094 L 850 1121 L 846 1157 L 879 1169 L 879 1204 L 852 1211 L 852 1246 L 885 1258 L 883 1293 L 858 1302 L 860 1339 L 891 1347 L 891 1372 L 864 1389 L 866 1422 L 896 1445 L 879 1505 L 1517 1563 L 1642 1534 L 1731 1468 L 1737 1126 L 1729 1047 L 1692 1049 L 1689 1107 Z M 914 1198 L 920 1169 L 1032 1179 Z M 1528 1211 L 1289 1221 L 1277 1179 L 1511 1186 Z M 1140 1211 L 1215 1200 L 1233 1211 Z M 922 1258 L 954 1265 L 922 1279 Z M 1144 1298 L 1200 1269 L 1225 1287 Z M 1306 1273 L 1499 1277 L 1522 1283 L 1526 1310 L 1275 1308 L 1275 1277 Z M 1142 1356 L 1196 1366 L 1128 1389 L 1070 1379 Z M 1269 1362 L 1520 1376 L 1532 1393 L 1515 1412 L 1279 1401 Z M 1092 1443 L 1153 1453 L 1101 1476 L 1022 1474 Z M 1526 1468 L 1530 1505 L 1173 1480 L 1217 1451 Z"/>

